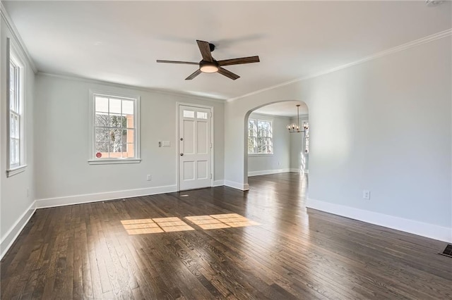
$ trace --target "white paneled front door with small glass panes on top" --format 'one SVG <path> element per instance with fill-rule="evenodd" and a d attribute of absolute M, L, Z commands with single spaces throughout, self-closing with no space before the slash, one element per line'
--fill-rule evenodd
<path fill-rule="evenodd" d="M 212 185 L 210 108 L 179 105 L 179 190 Z"/>

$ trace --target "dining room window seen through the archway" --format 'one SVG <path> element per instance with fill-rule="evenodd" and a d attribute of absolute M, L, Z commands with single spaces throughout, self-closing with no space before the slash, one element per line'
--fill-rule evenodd
<path fill-rule="evenodd" d="M 270 120 L 248 119 L 248 154 L 273 154 Z"/>

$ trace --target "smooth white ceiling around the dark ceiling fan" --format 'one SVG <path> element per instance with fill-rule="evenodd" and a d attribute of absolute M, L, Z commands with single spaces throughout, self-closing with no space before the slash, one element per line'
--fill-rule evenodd
<path fill-rule="evenodd" d="M 451 3 L 424 1 L 2 1 L 38 70 L 230 99 L 447 30 Z M 201 60 L 258 55 L 184 80 Z"/>

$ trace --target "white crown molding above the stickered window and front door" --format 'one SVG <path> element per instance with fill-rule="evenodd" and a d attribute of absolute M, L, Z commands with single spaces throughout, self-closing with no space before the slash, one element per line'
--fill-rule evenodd
<path fill-rule="evenodd" d="M 119 87 L 122 89 L 136 89 L 138 91 L 143 92 L 154 92 L 158 94 L 165 94 L 169 96 L 179 96 L 189 99 L 196 99 L 196 100 L 203 100 L 203 101 L 210 101 L 210 102 L 217 102 L 217 103 L 225 103 L 225 99 L 216 99 L 216 98 L 209 98 L 206 96 L 198 96 L 194 94 L 185 94 L 181 92 L 175 92 L 175 91 L 169 91 L 167 89 L 152 89 L 150 87 L 139 87 L 135 85 L 124 85 L 121 83 L 115 83 L 115 82 L 109 82 L 109 81 L 103 81 L 103 80 L 97 80 L 97 79 L 91 79 L 86 77 L 80 77 L 75 75 L 60 75 L 60 74 L 52 74 L 52 73 L 45 73 L 38 71 L 37 75 L 47 76 L 47 77 L 55 77 L 55 78 L 61 78 L 65 80 L 73 80 L 73 81 L 79 81 L 79 82 L 87 82 L 87 83 L 94 83 L 97 85 L 108 85 L 109 87 Z"/>

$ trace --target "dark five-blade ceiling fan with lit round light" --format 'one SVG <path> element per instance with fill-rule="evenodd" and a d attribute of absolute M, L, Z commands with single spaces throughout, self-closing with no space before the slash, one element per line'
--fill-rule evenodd
<path fill-rule="evenodd" d="M 186 77 L 185 80 L 192 80 L 194 77 L 198 76 L 201 73 L 220 73 L 221 75 L 225 75 L 226 77 L 230 77 L 232 80 L 236 80 L 240 76 L 234 74 L 225 68 L 222 68 L 224 65 L 240 65 L 242 63 L 258 63 L 259 56 L 249 56 L 242 58 L 231 58 L 225 59 L 223 61 L 216 61 L 215 58 L 212 57 L 212 51 L 215 50 L 215 45 L 210 44 L 209 42 L 203 42 L 196 40 L 198 43 L 199 51 L 201 51 L 201 56 L 203 59 L 199 63 L 194 63 L 191 61 L 161 61 L 157 59 L 157 63 L 182 63 L 186 65 L 199 65 L 198 70 L 194 71 L 189 77 Z"/>

